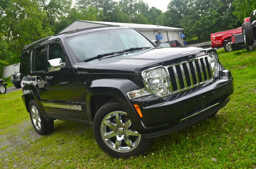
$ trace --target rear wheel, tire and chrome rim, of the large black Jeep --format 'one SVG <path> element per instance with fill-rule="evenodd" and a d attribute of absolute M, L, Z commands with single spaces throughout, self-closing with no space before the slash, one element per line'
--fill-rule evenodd
<path fill-rule="evenodd" d="M 31 100 L 29 102 L 29 110 L 30 119 L 36 132 L 40 135 L 46 135 L 51 133 L 53 130 L 54 122 L 53 120 L 46 121 L 44 119 L 44 116 L 42 115 L 41 110 L 37 105 L 36 101 Z"/>

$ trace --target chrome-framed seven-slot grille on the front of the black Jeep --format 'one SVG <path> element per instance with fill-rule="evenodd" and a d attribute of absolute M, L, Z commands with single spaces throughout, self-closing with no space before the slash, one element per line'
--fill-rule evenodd
<path fill-rule="evenodd" d="M 185 62 L 166 66 L 171 93 L 184 91 L 213 79 L 209 56 L 201 56 Z"/>

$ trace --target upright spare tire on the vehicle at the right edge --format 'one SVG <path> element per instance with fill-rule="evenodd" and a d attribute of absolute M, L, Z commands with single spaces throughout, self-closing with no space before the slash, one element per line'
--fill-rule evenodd
<path fill-rule="evenodd" d="M 244 44 L 246 46 L 252 46 L 254 43 L 254 32 L 252 24 L 250 22 L 244 22 L 242 25 L 242 33 L 244 36 Z"/>

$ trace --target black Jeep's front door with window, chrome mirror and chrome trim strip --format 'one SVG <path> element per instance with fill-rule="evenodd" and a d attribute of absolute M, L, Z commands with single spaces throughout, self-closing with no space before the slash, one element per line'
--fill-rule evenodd
<path fill-rule="evenodd" d="M 48 115 L 87 120 L 78 76 L 59 41 L 47 45 L 46 90 L 40 94 Z M 55 65 L 52 65 L 52 64 Z M 60 68 L 61 67 L 61 68 Z"/>

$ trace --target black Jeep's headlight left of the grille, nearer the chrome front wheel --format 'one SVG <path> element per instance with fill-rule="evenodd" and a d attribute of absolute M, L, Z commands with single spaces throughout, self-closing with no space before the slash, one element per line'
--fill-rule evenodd
<path fill-rule="evenodd" d="M 169 79 L 165 68 L 159 66 L 142 72 L 145 87 L 152 93 L 164 96 L 170 93 Z"/>

